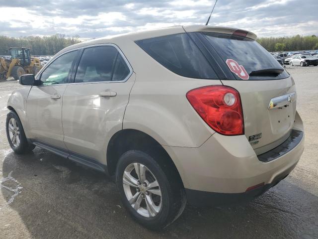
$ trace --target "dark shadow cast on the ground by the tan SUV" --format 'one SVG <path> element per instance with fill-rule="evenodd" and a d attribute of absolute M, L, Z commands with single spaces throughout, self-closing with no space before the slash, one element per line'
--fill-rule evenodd
<path fill-rule="evenodd" d="M 187 206 L 172 225 L 152 232 L 130 218 L 111 179 L 48 151 L 7 154 L 2 175 L 6 207 L 34 239 L 318 237 L 318 198 L 290 183 L 293 176 L 244 205 Z M 8 187 L 17 189 L 13 199 Z"/>

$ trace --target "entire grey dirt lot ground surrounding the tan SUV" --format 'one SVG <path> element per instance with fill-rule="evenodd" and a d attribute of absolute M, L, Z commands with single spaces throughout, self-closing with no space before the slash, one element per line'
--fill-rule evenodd
<path fill-rule="evenodd" d="M 112 180 L 36 148 L 18 156 L 5 135 L 6 102 L 20 85 L 0 82 L 0 238 L 318 238 L 318 67 L 289 67 L 305 123 L 295 170 L 253 202 L 197 209 L 162 232 L 135 223 Z M 270 82 L 269 82 L 270 83 Z"/>

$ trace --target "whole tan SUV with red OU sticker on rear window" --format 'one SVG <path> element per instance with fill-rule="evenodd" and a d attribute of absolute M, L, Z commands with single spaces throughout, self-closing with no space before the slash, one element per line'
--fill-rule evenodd
<path fill-rule="evenodd" d="M 304 150 L 293 78 L 243 30 L 175 26 L 65 48 L 12 93 L 6 132 L 116 176 L 159 229 L 198 206 L 251 199 Z"/>

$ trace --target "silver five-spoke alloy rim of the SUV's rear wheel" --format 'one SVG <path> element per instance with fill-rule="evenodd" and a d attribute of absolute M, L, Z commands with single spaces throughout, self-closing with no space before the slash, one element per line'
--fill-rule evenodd
<path fill-rule="evenodd" d="M 145 165 L 131 163 L 126 167 L 123 188 L 128 202 L 138 214 L 152 218 L 160 212 L 162 198 L 159 183 Z"/>

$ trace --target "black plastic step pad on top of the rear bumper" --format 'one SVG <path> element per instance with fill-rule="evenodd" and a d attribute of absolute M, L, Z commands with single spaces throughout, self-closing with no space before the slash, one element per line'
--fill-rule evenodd
<path fill-rule="evenodd" d="M 303 131 L 293 129 L 290 136 L 282 144 L 267 151 L 266 153 L 257 155 L 258 160 L 267 163 L 288 153 L 300 143 L 303 136 Z"/>

